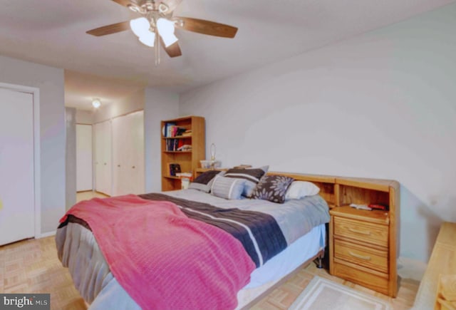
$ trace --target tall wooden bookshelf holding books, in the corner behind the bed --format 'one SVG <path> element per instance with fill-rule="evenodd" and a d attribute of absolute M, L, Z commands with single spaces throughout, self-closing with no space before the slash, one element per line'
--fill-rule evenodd
<path fill-rule="evenodd" d="M 200 116 L 186 116 L 172 120 L 162 120 L 161 153 L 162 153 L 162 191 L 180 190 L 179 177 L 170 175 L 170 164 L 180 165 L 182 172 L 192 172 L 195 177 L 199 160 L 206 158 L 205 125 L 204 118 Z M 172 136 L 167 132 L 167 126 L 174 125 L 178 128 L 191 130 L 191 135 Z M 191 150 L 177 150 L 179 146 L 191 145 Z"/>

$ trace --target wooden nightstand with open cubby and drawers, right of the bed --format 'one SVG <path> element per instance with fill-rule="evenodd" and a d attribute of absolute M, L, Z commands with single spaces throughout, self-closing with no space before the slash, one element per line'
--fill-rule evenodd
<path fill-rule="evenodd" d="M 379 181 L 336 178 L 336 205 L 341 207 L 330 210 L 329 271 L 395 297 L 399 184 Z M 357 210 L 351 203 L 388 205 L 389 210 Z"/>

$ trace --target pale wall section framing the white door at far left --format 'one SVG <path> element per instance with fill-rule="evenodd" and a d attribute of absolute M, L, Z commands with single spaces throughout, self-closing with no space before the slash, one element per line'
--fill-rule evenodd
<path fill-rule="evenodd" d="M 40 89 L 41 232 L 52 232 L 66 205 L 63 69 L 0 56 L 0 82 Z"/>

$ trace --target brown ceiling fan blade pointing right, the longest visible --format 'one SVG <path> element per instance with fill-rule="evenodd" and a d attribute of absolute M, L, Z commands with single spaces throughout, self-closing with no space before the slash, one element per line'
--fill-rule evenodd
<path fill-rule="evenodd" d="M 205 21 L 204 19 L 192 19 L 190 17 L 175 17 L 174 19 L 183 21 L 180 26 L 176 23 L 176 27 L 187 31 L 209 34 L 209 36 L 222 36 L 224 38 L 234 38 L 237 33 L 237 28 L 225 24 L 219 24 L 214 21 Z"/>

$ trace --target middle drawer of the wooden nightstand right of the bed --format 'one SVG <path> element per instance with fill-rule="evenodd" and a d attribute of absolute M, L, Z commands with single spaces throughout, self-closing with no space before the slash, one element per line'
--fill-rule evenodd
<path fill-rule="evenodd" d="M 388 252 L 334 239 L 334 257 L 379 272 L 388 272 Z"/>

